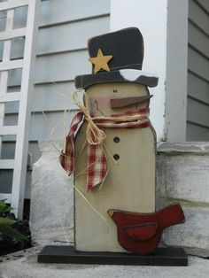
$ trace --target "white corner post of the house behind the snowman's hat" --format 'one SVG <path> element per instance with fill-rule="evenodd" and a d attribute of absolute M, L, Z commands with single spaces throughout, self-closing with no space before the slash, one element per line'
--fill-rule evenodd
<path fill-rule="evenodd" d="M 187 12 L 188 0 L 111 2 L 111 31 L 138 27 L 144 39 L 143 71 L 159 75 L 158 87 L 150 89 L 158 141 L 185 140 Z"/>

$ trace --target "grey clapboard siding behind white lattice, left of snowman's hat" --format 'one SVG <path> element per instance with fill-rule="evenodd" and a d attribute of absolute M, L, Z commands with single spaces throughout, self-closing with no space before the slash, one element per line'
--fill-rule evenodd
<path fill-rule="evenodd" d="M 64 126 L 72 119 L 71 97 L 74 77 L 90 73 L 87 40 L 90 36 L 109 32 L 109 0 L 46 0 L 42 1 L 37 38 L 35 91 L 33 92 L 29 151 L 34 162 L 40 157 L 39 140 L 62 139 Z M 15 12 L 14 27 L 26 24 L 26 8 Z M 0 29 L 4 30 L 4 13 L 0 14 Z M 0 60 L 3 43 L 0 43 Z M 24 39 L 12 42 L 12 58 L 23 56 Z M 11 71 L 8 88 L 19 89 L 21 72 Z M 64 111 L 68 111 L 67 114 Z M 6 105 L 4 124 L 13 125 L 18 119 L 18 103 Z M 4 136 L 3 158 L 14 155 L 13 136 Z M 3 171 L 4 192 L 10 192 L 11 171 Z M 30 183 L 27 177 L 27 187 Z M 0 191 L 3 189 L 0 188 Z M 27 192 L 29 192 L 27 190 Z M 29 193 L 27 193 L 27 197 Z"/>

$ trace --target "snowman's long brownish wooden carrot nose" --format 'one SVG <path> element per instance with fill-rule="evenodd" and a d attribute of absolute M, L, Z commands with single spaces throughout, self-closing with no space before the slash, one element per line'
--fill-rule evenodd
<path fill-rule="evenodd" d="M 144 96 L 144 97 L 112 98 L 111 99 L 111 108 L 127 107 L 132 104 L 143 104 L 144 102 L 151 99 L 151 97 L 153 97 L 153 95 Z"/>

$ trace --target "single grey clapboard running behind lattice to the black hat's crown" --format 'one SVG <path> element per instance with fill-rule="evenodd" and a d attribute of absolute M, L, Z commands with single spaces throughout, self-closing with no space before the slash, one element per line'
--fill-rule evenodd
<path fill-rule="evenodd" d="M 41 28 L 37 37 L 37 55 L 41 56 L 87 49 L 88 38 L 105 33 L 108 28 L 109 22 L 106 16 L 86 20 L 85 32 L 83 30 L 83 21 Z M 2 46 L 0 45 L 0 53 L 1 49 Z M 21 58 L 23 56 L 23 49 L 24 38 L 20 37 L 12 40 L 13 59 Z"/>

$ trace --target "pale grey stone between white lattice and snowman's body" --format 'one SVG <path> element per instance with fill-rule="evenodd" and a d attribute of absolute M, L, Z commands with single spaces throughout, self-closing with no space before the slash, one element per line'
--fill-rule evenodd
<path fill-rule="evenodd" d="M 42 157 L 34 164 L 30 229 L 36 243 L 72 242 L 74 189 L 72 179 L 59 164 L 61 142 L 41 142 Z"/>

